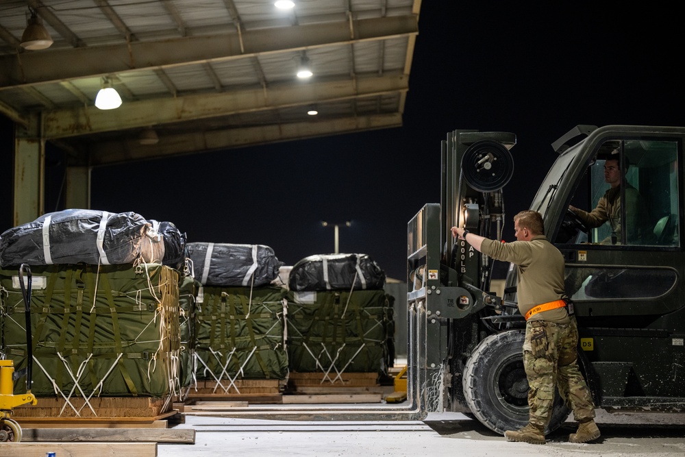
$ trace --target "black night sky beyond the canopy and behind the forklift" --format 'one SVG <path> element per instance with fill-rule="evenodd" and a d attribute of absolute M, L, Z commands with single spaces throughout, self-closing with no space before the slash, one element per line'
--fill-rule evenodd
<path fill-rule="evenodd" d="M 532 3 L 535 3 L 534 5 Z M 551 3 L 551 2 L 549 2 Z M 295 264 L 334 248 L 406 279 L 407 223 L 440 196 L 440 142 L 454 129 L 517 136 L 504 188 L 527 209 L 577 124 L 683 125 L 682 24 L 656 3 L 423 1 L 404 125 L 135 162 L 92 172 L 92 208 L 171 221 L 188 241 L 271 246 Z M 12 224 L 12 125 L 0 118 L 0 230 Z M 63 160 L 48 148 L 46 212 Z"/>

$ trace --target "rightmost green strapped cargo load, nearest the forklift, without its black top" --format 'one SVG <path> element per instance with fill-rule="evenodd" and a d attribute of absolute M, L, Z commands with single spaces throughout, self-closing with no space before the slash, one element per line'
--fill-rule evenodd
<path fill-rule="evenodd" d="M 288 360 L 301 373 L 388 373 L 393 307 L 384 291 L 288 293 Z"/>

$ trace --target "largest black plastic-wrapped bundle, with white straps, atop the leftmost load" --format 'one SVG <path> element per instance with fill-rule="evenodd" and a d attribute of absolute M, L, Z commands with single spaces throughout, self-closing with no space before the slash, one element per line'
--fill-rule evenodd
<path fill-rule="evenodd" d="M 106 213 L 104 230 L 100 221 Z M 49 220 L 46 239 L 43 227 Z M 101 251 L 98 234 L 101 233 Z M 46 255 L 47 250 L 47 255 Z M 99 210 L 62 210 L 43 214 L 33 222 L 5 230 L 0 235 L 0 265 L 132 264 L 160 263 L 164 240 L 150 221 L 135 212 L 110 213 Z"/>

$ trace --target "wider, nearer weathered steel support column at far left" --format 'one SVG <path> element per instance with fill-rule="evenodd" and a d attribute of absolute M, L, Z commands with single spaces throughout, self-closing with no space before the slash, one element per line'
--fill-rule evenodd
<path fill-rule="evenodd" d="M 40 114 L 30 116 L 27 127 L 14 127 L 14 225 L 34 221 L 45 212 L 45 140 Z"/>

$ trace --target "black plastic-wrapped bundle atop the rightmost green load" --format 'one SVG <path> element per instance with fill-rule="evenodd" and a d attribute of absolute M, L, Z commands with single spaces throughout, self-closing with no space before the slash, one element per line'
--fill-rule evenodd
<path fill-rule="evenodd" d="M 366 254 L 318 254 L 293 265 L 288 286 L 291 291 L 380 290 L 385 279 Z"/>

